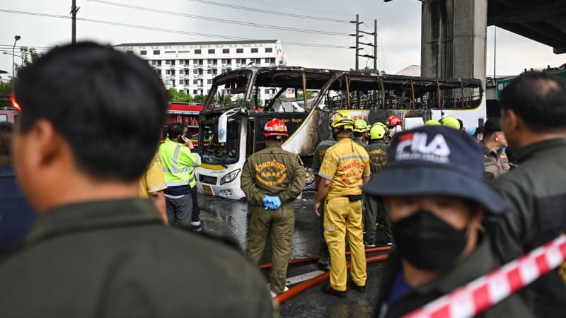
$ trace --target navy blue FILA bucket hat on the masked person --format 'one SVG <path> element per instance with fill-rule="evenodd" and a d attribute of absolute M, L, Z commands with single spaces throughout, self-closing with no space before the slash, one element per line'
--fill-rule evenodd
<path fill-rule="evenodd" d="M 445 126 L 420 126 L 395 134 L 387 163 L 364 186 L 374 196 L 449 195 L 470 199 L 491 213 L 507 204 L 483 183 L 478 142 Z"/>

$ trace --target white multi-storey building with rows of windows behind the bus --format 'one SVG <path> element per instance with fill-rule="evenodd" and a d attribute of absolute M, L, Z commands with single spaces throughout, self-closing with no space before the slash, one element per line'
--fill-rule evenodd
<path fill-rule="evenodd" d="M 166 88 L 193 96 L 207 95 L 212 78 L 231 69 L 279 66 L 287 59 L 279 40 L 122 43 L 115 48 L 148 60 Z"/>

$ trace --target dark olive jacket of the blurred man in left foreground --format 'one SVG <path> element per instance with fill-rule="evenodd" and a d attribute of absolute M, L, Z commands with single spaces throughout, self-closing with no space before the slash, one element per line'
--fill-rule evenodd
<path fill-rule="evenodd" d="M 147 199 L 59 206 L 0 260 L 0 317 L 272 317 L 226 243 L 163 225 Z"/>

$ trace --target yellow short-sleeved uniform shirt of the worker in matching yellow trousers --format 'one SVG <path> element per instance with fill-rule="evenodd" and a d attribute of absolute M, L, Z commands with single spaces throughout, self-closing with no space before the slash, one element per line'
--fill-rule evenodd
<path fill-rule="evenodd" d="M 369 177 L 369 155 L 352 139 L 328 148 L 318 176 L 329 179 L 327 199 L 362 194 L 362 177 Z"/>

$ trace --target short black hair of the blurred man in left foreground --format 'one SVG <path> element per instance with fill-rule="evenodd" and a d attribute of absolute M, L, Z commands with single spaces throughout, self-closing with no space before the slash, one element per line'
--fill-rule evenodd
<path fill-rule="evenodd" d="M 19 129 L 51 122 L 87 175 L 132 181 L 154 155 L 166 90 L 146 61 L 107 45 L 55 47 L 18 73 Z"/>

